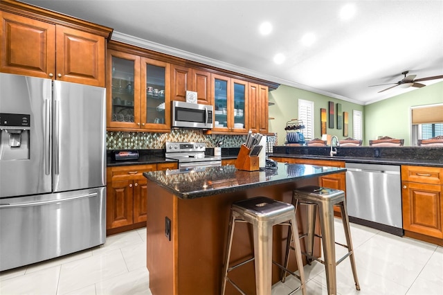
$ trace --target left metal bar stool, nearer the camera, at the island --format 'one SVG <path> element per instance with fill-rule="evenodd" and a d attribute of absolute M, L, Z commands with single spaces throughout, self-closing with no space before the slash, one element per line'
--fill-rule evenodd
<path fill-rule="evenodd" d="M 252 224 L 254 257 L 229 267 L 230 251 L 233 244 L 233 233 L 236 222 L 247 222 Z M 296 241 L 294 244 L 296 249 L 297 267 L 300 273 L 299 276 L 272 260 L 273 226 L 276 224 L 291 226 L 291 237 Z M 240 293 L 245 294 L 237 284 L 228 278 L 228 272 L 254 260 L 255 289 L 257 295 L 271 294 L 272 263 L 281 269 L 284 269 L 284 271 L 288 271 L 293 276 L 296 276 L 301 282 L 298 289 L 301 288 L 302 294 L 305 295 L 305 273 L 303 272 L 300 241 L 295 239 L 295 237 L 298 237 L 298 226 L 296 222 L 295 208 L 292 204 L 276 201 L 267 197 L 254 197 L 252 199 L 245 199 L 233 203 L 230 210 L 221 294 L 224 294 L 226 291 L 226 282 L 231 283 Z"/>

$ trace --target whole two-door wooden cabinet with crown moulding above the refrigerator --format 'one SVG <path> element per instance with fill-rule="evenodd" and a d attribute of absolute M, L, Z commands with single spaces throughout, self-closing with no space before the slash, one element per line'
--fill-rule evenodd
<path fill-rule="evenodd" d="M 17 1 L 0 6 L 1 72 L 105 87 L 110 28 Z"/>

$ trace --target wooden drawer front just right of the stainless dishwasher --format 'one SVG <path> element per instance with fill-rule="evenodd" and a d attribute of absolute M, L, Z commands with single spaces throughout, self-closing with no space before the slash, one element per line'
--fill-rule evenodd
<path fill-rule="evenodd" d="M 401 166 L 401 180 L 421 184 L 443 185 L 443 168 L 424 166 Z"/>

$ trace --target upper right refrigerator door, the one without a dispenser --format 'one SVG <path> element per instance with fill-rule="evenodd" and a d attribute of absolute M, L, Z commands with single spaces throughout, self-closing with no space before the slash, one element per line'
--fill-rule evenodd
<path fill-rule="evenodd" d="M 54 192 L 105 186 L 105 88 L 54 81 Z"/>

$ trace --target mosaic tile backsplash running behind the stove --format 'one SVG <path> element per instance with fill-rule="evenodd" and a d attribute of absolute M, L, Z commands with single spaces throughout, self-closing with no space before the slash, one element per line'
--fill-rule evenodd
<path fill-rule="evenodd" d="M 240 147 L 244 135 L 203 134 L 197 129 L 172 129 L 170 133 L 151 132 L 107 132 L 107 150 L 163 149 L 166 141 L 206 143 L 206 147 Z"/>

